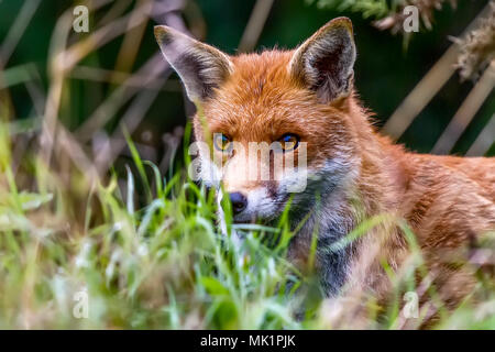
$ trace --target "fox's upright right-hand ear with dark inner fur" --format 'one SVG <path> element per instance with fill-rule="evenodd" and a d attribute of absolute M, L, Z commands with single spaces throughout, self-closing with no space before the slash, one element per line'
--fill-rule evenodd
<path fill-rule="evenodd" d="M 355 55 L 351 20 L 338 18 L 296 50 L 289 69 L 328 103 L 351 92 Z"/>

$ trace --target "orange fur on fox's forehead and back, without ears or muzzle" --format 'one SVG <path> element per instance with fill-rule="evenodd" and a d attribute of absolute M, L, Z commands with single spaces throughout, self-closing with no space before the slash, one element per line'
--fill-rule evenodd
<path fill-rule="evenodd" d="M 308 143 L 308 163 L 314 166 L 331 157 L 336 144 L 355 146 L 363 218 L 393 213 L 406 219 L 430 268 L 440 271 L 437 282 L 449 286 L 444 299 L 458 302 L 474 280 L 449 268 L 437 253 L 469 244 L 471 235 L 495 230 L 495 160 L 406 152 L 374 131 L 354 96 L 338 107 L 319 105 L 315 95 L 287 74 L 292 55 L 277 51 L 233 57 L 234 74 L 215 99 L 204 105 L 211 132 L 228 133 L 241 142 L 271 142 L 286 132 L 297 133 Z M 196 131 L 201 139 L 198 120 Z M 405 246 L 396 231 L 380 252 L 398 267 L 408 254 Z M 380 256 L 363 264 L 372 272 L 360 268 L 364 282 L 360 289 L 369 282 L 373 290 L 386 292 L 374 287 L 386 282 L 376 279 L 384 276 L 376 263 Z"/>

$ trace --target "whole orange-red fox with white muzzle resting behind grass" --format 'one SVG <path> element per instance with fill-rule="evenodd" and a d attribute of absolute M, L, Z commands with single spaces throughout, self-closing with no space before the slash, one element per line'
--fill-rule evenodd
<path fill-rule="evenodd" d="M 305 267 L 317 233 L 315 266 L 326 297 L 389 299 L 383 263 L 398 273 L 410 257 L 404 227 L 384 220 L 345 241 L 381 215 L 409 227 L 447 307 L 473 292 L 474 270 L 448 254 L 468 262 L 469 249 L 495 230 L 495 158 L 417 154 L 380 134 L 354 87 L 350 19 L 331 20 L 295 50 L 234 56 L 166 25 L 154 33 L 197 107 L 196 141 L 211 146 L 199 153 L 199 178 L 230 199 L 234 222 L 268 223 L 289 205 L 297 231 L 288 260 Z M 274 155 L 305 164 L 245 177 L 260 167 L 260 155 L 232 145 L 253 142 L 277 144 L 268 164 Z M 217 177 L 208 177 L 212 168 Z M 304 189 L 292 191 L 302 172 Z"/>

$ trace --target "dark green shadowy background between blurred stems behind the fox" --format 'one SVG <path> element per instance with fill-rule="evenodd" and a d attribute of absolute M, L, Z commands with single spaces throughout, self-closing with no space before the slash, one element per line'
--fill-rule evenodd
<path fill-rule="evenodd" d="M 206 42 L 230 54 L 235 54 L 254 1 L 197 0 L 196 3 L 206 24 Z M 422 29 L 420 33 L 414 34 L 406 50 L 402 34 L 394 35 L 391 31 L 378 31 L 372 25 L 372 21 L 363 19 L 361 13 L 319 9 L 316 4 L 309 4 L 304 0 L 276 0 L 256 50 L 262 51 L 264 47 L 274 45 L 292 48 L 332 18 L 339 15 L 351 18 L 359 52 L 355 66 L 358 91 L 364 105 L 376 113 L 377 125 L 383 125 L 407 94 L 451 45 L 449 36 L 459 36 L 486 3 L 487 1 L 464 0 L 458 2 L 457 9 L 444 3 L 443 9 L 435 13 L 432 30 Z M 22 4 L 23 1 L 18 0 L 0 2 L 0 43 L 13 25 Z M 46 67 L 54 26 L 58 16 L 75 4 L 77 2 L 42 1 L 7 68 L 34 63 L 44 88 L 47 89 Z M 129 9 L 132 7 L 131 1 Z M 110 4 L 91 14 L 90 29 L 109 8 Z M 153 36 L 155 24 L 153 20 L 146 24 L 133 70 L 158 50 Z M 77 41 L 78 35 L 82 37 L 88 34 L 73 35 L 70 41 Z M 111 41 L 88 55 L 81 65 L 113 69 L 121 44 L 122 37 Z M 163 153 L 164 133 L 186 122 L 184 97 L 180 89 L 177 89 L 179 85 L 175 74 L 169 84 L 172 88 L 160 92 L 139 128 L 132 133 L 133 140 L 141 146 L 156 147 L 158 154 Z M 82 79 L 70 79 L 67 85 L 70 88 L 68 89 L 70 109 L 61 110 L 58 119 L 69 130 L 77 129 L 116 88 L 112 84 Z M 408 148 L 429 152 L 472 87 L 472 81 L 461 82 L 459 75 L 455 74 L 415 119 L 399 142 L 405 143 Z M 10 95 L 13 102 L 13 119 L 25 119 L 35 114 L 25 87 L 11 87 Z M 455 144 L 453 153 L 465 153 L 480 134 L 495 111 L 493 98 L 492 94 L 484 102 Z M 124 103 L 119 113 L 106 124 L 107 132 L 111 133 L 117 128 L 119 118 L 127 107 L 128 103 Z M 147 133 L 145 138 L 143 132 Z M 493 146 L 488 154 L 494 154 Z M 158 161 L 160 157 L 151 158 Z"/>

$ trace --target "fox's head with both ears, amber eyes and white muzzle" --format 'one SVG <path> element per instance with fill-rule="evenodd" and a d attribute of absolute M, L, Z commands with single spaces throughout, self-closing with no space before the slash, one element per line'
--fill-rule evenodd
<path fill-rule="evenodd" d="M 198 175 L 229 195 L 235 221 L 307 209 L 355 176 L 349 19 L 294 51 L 238 56 L 164 25 L 155 36 L 197 106 Z"/>

